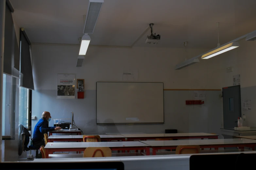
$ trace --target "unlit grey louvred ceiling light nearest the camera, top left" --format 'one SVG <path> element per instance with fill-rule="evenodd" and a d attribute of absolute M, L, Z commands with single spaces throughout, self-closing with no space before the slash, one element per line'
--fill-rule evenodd
<path fill-rule="evenodd" d="M 84 34 L 93 34 L 95 25 L 104 0 L 90 0 L 86 20 L 84 22 Z"/>

